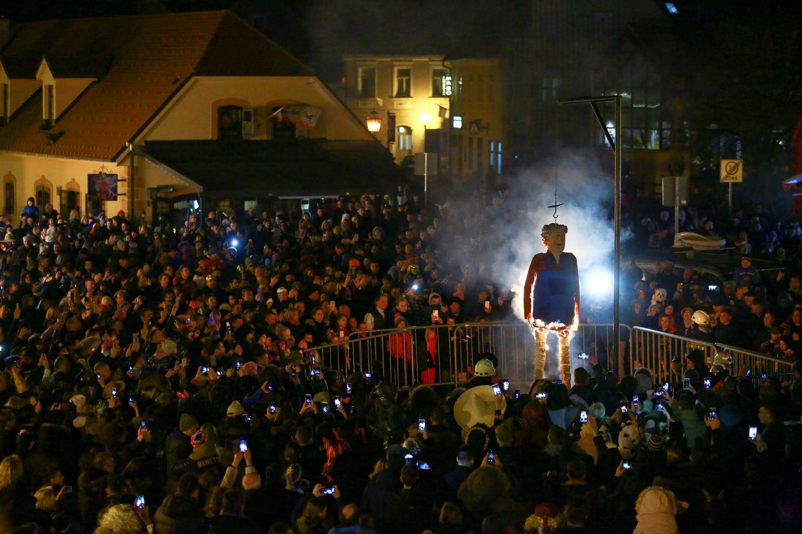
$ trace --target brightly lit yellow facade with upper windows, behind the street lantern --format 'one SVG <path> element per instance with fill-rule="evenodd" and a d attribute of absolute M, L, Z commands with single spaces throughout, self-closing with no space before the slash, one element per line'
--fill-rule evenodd
<path fill-rule="evenodd" d="M 443 55 L 346 55 L 342 98 L 360 120 L 373 111 L 375 132 L 399 164 L 418 152 L 444 150 L 453 92 Z"/>

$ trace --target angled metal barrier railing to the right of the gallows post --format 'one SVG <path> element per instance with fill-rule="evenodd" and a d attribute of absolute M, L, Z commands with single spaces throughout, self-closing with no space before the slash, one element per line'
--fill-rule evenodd
<path fill-rule="evenodd" d="M 733 358 L 731 372 L 743 375 L 747 370 L 751 370 L 750 378 L 755 382 L 759 382 L 764 373 L 768 376 L 786 378 L 793 366 L 793 362 L 772 358 L 751 350 L 727 345 L 717 346 L 713 343 L 666 334 L 641 326 L 635 326 L 632 329 L 630 349 L 630 369 L 627 371 L 632 373 L 638 366 L 644 366 L 654 372 L 657 381 L 678 381 L 679 378 L 682 378 L 682 376 L 672 374 L 671 360 L 678 358 L 679 366 L 684 372 L 687 368 L 684 356 L 694 349 L 703 352 L 707 366 L 712 365 L 717 352 L 723 351 L 730 354 Z"/>

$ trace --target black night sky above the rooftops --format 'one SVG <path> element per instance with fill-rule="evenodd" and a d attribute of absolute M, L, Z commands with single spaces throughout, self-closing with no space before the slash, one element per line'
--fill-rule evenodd
<path fill-rule="evenodd" d="M 2 2 L 0 14 L 14 21 L 136 14 L 148 10 L 262 8 L 266 33 L 326 79 L 338 77 L 348 52 L 484 52 L 512 29 L 531 0 L 26 0 Z M 657 2 L 658 6 L 663 3 Z M 727 3 L 727 8 L 722 4 Z M 766 2 L 677 0 L 671 22 L 720 17 L 759 17 Z M 773 3 L 773 2 L 772 2 Z M 779 2 L 786 3 L 786 2 Z M 734 6 L 734 7 L 733 7 Z M 517 17 L 520 18 L 520 17 Z M 520 22 L 520 21 L 516 21 Z"/>

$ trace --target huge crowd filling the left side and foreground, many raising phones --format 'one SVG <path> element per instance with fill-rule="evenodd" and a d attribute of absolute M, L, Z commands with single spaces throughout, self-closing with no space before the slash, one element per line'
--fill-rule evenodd
<path fill-rule="evenodd" d="M 424 383 L 435 336 L 390 352 L 420 373 L 401 389 L 387 362 L 315 359 L 367 330 L 508 318 L 483 258 L 525 208 L 511 199 L 363 196 L 179 228 L 34 204 L 0 220 L 0 532 L 798 531 L 802 366 L 758 388 L 677 354 L 662 383 L 589 354 L 569 390 L 510 385 L 479 354 L 455 388 Z M 764 287 L 743 269 L 733 310 Z M 673 273 L 646 274 L 658 327 L 671 305 L 687 326 L 684 290 L 660 291 Z M 728 306 L 708 300 L 711 332 L 691 322 L 715 338 Z"/>

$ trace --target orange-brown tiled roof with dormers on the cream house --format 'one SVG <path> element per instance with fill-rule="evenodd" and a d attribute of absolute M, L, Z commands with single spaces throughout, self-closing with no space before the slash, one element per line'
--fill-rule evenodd
<path fill-rule="evenodd" d="M 11 78 L 34 77 L 43 58 L 62 74 L 107 69 L 57 119 L 55 144 L 39 131 L 41 91 L 0 127 L 0 150 L 99 160 L 113 160 L 192 74 L 314 75 L 230 11 L 27 22 L 0 58 Z"/>

